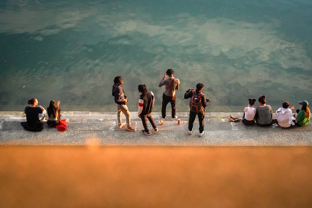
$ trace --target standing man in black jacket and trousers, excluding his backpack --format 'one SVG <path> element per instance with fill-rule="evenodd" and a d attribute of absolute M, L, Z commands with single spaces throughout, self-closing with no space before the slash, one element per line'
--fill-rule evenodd
<path fill-rule="evenodd" d="M 199 121 L 199 133 L 198 136 L 201 137 L 204 134 L 204 117 L 205 117 L 205 108 L 209 104 L 210 100 L 207 98 L 205 94 L 202 93 L 202 89 L 204 89 L 204 84 L 198 83 L 196 85 L 196 90 L 190 88 L 186 93 L 184 94 L 184 99 L 192 98 L 194 94 L 197 94 L 201 98 L 201 107 L 199 109 L 199 112 L 193 112 L 190 110 L 190 117 L 188 119 L 188 134 L 193 133 L 193 123 L 195 121 L 196 115 L 198 117 Z"/>

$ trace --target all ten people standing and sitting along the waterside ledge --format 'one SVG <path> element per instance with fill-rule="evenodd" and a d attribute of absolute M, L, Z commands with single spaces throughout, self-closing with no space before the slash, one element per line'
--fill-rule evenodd
<path fill-rule="evenodd" d="M 124 89 L 120 86 L 124 83 L 124 80 L 121 76 L 116 76 L 114 79 L 112 95 L 115 98 L 115 103 L 117 106 L 117 121 L 118 128 L 123 128 L 126 126 L 126 129 L 134 132 L 136 129 L 131 126 L 130 121 L 130 112 L 127 107 L 128 98 L 124 94 Z M 166 107 L 168 103 L 171 104 L 171 116 L 173 119 L 177 119 L 176 115 L 176 93 L 175 91 L 179 89 L 180 80 L 173 77 L 173 70 L 168 69 L 166 74 L 160 81 L 158 87 L 165 86 L 162 99 L 162 108 L 161 108 L 161 119 L 166 119 Z M 208 106 L 210 100 L 206 98 L 205 94 L 202 93 L 204 85 L 198 83 L 196 89 L 189 88 L 185 94 L 184 99 L 190 99 L 190 114 L 188 120 L 188 133 L 193 134 L 193 123 L 196 119 L 196 115 L 199 121 L 199 133 L 198 136 L 201 137 L 204 133 L 204 117 L 205 117 L 205 108 Z M 151 91 L 147 90 L 145 84 L 138 86 L 138 91 L 141 93 L 139 96 L 139 108 L 138 116 L 141 118 L 144 129 L 141 130 L 142 133 L 150 135 L 150 131 L 147 124 L 147 119 L 152 124 L 154 132 L 158 131 L 156 123 L 151 115 L 154 106 L 154 94 Z M 242 122 L 246 125 L 251 125 L 257 123 L 261 126 L 268 126 L 273 123 L 272 120 L 272 109 L 270 105 L 266 104 L 266 96 L 262 95 L 258 101 L 259 106 L 254 108 L 256 99 L 249 98 L 249 104 L 244 108 Z M 45 120 L 46 114 L 48 115 L 47 124 L 50 127 L 55 127 L 60 122 L 61 109 L 59 107 L 60 101 L 55 102 L 54 100 L 50 101 L 49 107 L 45 110 L 42 106 L 38 105 L 38 100 L 32 98 L 28 100 L 28 104 L 25 108 L 26 122 L 21 122 L 22 126 L 29 131 L 41 131 L 43 129 L 42 121 Z M 309 103 L 306 100 L 299 102 L 301 110 L 297 109 L 295 114 L 292 114 L 292 110 L 295 109 L 295 106 L 289 108 L 289 102 L 284 102 L 282 108 L 279 108 L 276 111 L 277 122 L 281 127 L 287 128 L 293 125 L 305 126 L 310 123 L 310 109 L 308 108 Z M 124 114 L 126 121 L 121 121 L 121 114 Z"/>

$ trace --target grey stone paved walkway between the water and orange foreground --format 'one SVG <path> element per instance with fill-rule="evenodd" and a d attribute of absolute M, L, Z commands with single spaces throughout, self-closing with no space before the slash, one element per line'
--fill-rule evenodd
<path fill-rule="evenodd" d="M 26 121 L 23 112 L 0 112 L 1 145 L 143 145 L 143 146 L 311 146 L 312 125 L 281 128 L 279 126 L 246 126 L 228 122 L 229 115 L 241 117 L 241 113 L 206 113 L 205 133 L 198 137 L 198 120 L 194 123 L 193 135 L 188 135 L 188 113 L 178 113 L 181 119 L 167 119 L 158 125 L 159 131 L 150 136 L 142 134 L 141 119 L 131 112 L 131 123 L 136 132 L 119 129 L 115 112 L 62 112 L 68 129 L 59 132 L 44 123 L 41 132 L 25 131 L 20 122 Z M 154 120 L 161 114 L 153 113 Z M 275 115 L 273 116 L 273 118 Z M 124 115 L 122 116 L 125 121 Z M 149 122 L 148 122 L 149 123 Z M 149 124 L 150 125 L 150 124 Z M 150 130 L 152 127 L 150 126 Z"/>

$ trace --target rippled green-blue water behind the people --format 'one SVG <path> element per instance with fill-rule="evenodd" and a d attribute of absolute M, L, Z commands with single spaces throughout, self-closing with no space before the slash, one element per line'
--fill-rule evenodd
<path fill-rule="evenodd" d="M 204 83 L 211 111 L 242 111 L 267 95 L 312 102 L 311 1 L 1 1 L 0 110 L 36 97 L 44 107 L 115 111 L 113 79 L 124 77 L 129 110 L 145 83 L 160 112 L 168 68 L 185 90 Z M 167 110 L 169 110 L 169 105 Z"/>

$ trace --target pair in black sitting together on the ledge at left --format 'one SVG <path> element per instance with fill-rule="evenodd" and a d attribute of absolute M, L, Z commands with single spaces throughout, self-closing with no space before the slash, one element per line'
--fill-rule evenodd
<path fill-rule="evenodd" d="M 61 118 L 61 109 L 59 107 L 60 101 L 55 102 L 54 100 L 51 100 L 47 109 L 38 105 L 38 100 L 36 98 L 28 100 L 28 104 L 30 104 L 30 106 L 26 106 L 24 110 L 26 121 L 21 122 L 24 129 L 35 132 L 41 131 L 43 129 L 42 121 L 45 121 L 46 114 L 48 115 L 46 123 L 50 127 L 56 127 L 59 123 Z"/>

